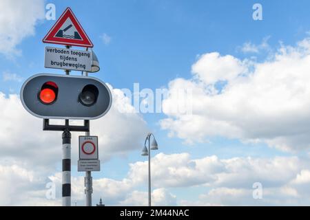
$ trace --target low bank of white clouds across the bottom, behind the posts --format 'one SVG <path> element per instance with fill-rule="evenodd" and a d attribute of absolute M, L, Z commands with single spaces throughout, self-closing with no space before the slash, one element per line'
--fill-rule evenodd
<path fill-rule="evenodd" d="M 3 161 L 1 161 L 3 164 Z M 157 172 L 158 170 L 158 172 Z M 192 159 L 188 153 L 152 158 L 152 204 L 154 206 L 236 206 L 236 205 L 304 205 L 309 197 L 309 157 L 220 159 L 215 155 Z M 44 178 L 45 173 L 28 170 L 15 164 L 0 165 L 2 205 L 60 206 L 61 173 Z M 93 180 L 93 201 L 102 197 L 107 206 L 146 206 L 147 162 L 130 164 L 123 179 L 96 178 Z M 12 181 L 16 187 L 10 187 Z M 56 199 L 45 197 L 45 184 L 56 186 Z M 262 185 L 262 199 L 254 199 L 254 182 Z M 192 199 L 181 199 L 170 192 L 174 188 L 195 188 L 203 193 Z M 84 177 L 72 177 L 72 204 L 85 202 Z M 16 201 L 17 199 L 18 201 Z"/>

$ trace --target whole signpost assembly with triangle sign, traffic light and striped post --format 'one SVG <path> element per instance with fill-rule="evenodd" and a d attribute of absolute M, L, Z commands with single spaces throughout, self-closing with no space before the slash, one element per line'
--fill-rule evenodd
<path fill-rule="evenodd" d="M 65 45 L 65 48 L 45 47 L 45 67 L 64 69 L 65 75 L 36 74 L 21 87 L 21 102 L 32 115 L 43 118 L 43 131 L 63 131 L 63 206 L 71 206 L 71 132 L 84 131 L 79 137 L 79 171 L 86 172 L 86 205 L 92 204 L 91 171 L 100 170 L 98 137 L 89 136 L 90 120 L 101 118 L 110 110 L 112 94 L 98 78 L 70 76 L 70 70 L 94 72 L 99 66 L 93 52 L 70 50 L 70 46 L 93 47 L 92 42 L 67 8 L 44 37 L 43 43 Z M 50 124 L 50 119 L 63 119 L 65 124 Z M 70 125 L 69 120 L 84 120 L 80 126 Z"/>

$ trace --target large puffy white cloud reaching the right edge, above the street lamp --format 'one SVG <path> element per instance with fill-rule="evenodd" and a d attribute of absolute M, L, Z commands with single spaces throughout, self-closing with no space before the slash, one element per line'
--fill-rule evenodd
<path fill-rule="evenodd" d="M 161 127 L 189 143 L 222 136 L 284 151 L 309 148 L 309 61 L 310 39 L 294 47 L 282 45 L 262 63 L 204 54 L 192 67 L 192 79 L 169 83 L 171 93 L 192 89 L 192 115 L 165 111 L 176 104 L 167 97 L 163 111 L 168 118 Z M 220 80 L 227 82 L 218 88 Z"/>

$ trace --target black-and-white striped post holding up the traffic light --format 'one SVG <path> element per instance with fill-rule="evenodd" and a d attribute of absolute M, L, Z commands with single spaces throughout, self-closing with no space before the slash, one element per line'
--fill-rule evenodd
<path fill-rule="evenodd" d="M 65 120 L 69 124 L 69 120 Z M 63 206 L 71 206 L 71 133 L 69 129 L 63 131 L 63 177 L 62 196 Z"/>

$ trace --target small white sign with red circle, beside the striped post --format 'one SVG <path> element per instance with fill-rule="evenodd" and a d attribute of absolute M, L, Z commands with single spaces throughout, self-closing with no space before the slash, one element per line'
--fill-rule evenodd
<path fill-rule="evenodd" d="M 97 136 L 79 136 L 79 159 L 98 159 Z"/>

